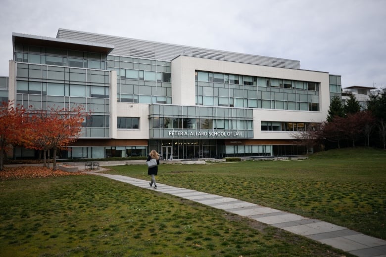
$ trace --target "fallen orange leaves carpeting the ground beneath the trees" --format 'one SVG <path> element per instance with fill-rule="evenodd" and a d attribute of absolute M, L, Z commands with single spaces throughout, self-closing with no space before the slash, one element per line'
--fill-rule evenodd
<path fill-rule="evenodd" d="M 53 171 L 46 167 L 6 167 L 0 171 L 0 180 L 9 179 L 22 179 L 22 178 L 34 178 L 34 177 L 57 177 L 57 176 L 70 176 L 70 175 L 85 175 L 82 172 L 67 172 L 67 171 Z"/>

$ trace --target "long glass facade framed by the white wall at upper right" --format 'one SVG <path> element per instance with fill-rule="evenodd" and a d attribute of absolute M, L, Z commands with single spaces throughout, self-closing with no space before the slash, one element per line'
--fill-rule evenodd
<path fill-rule="evenodd" d="M 319 111 L 319 83 L 195 72 L 196 104 Z"/>

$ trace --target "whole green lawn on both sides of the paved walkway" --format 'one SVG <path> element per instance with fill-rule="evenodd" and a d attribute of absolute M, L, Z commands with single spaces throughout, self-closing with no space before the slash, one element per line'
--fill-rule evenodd
<path fill-rule="evenodd" d="M 361 149 L 306 161 L 161 165 L 157 179 L 385 238 L 385 157 Z M 113 169 L 148 179 L 145 164 Z M 8 256 L 350 255 L 222 210 L 87 175 L 0 181 L 0 257 Z"/>

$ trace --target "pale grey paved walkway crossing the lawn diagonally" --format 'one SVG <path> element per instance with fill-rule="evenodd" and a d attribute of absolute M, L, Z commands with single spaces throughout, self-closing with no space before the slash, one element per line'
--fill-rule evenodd
<path fill-rule="evenodd" d="M 122 175 L 88 172 L 108 177 L 134 186 L 156 190 L 162 193 L 189 199 L 229 213 L 248 217 L 272 225 L 294 234 L 308 237 L 323 244 L 343 250 L 359 257 L 386 257 L 386 241 L 349 230 L 345 227 L 317 219 L 275 210 L 235 198 L 208 194 L 191 189 L 157 183 L 156 189 L 149 186 L 148 180 Z"/>

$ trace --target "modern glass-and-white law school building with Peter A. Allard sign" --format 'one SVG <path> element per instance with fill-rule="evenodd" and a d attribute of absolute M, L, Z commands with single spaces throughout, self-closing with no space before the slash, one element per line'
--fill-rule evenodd
<path fill-rule="evenodd" d="M 13 33 L 12 41 L 2 99 L 7 91 L 24 107 L 82 104 L 92 113 L 61 158 L 304 154 L 293 133 L 326 120 L 341 93 L 340 76 L 296 60 L 66 29 L 56 38 Z"/>

